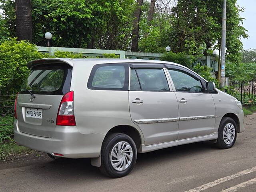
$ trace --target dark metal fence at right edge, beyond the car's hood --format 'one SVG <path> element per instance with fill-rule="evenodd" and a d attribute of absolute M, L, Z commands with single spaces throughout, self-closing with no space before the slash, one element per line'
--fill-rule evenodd
<path fill-rule="evenodd" d="M 256 104 L 256 81 L 230 81 L 228 94 L 240 100 L 244 105 Z"/>

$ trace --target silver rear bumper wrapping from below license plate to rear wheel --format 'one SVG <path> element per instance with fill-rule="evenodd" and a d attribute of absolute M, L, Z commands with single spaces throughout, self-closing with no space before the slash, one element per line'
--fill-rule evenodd
<path fill-rule="evenodd" d="M 106 134 L 81 134 L 76 126 L 56 126 L 52 138 L 22 133 L 14 120 L 14 140 L 19 145 L 66 158 L 97 158 Z"/>

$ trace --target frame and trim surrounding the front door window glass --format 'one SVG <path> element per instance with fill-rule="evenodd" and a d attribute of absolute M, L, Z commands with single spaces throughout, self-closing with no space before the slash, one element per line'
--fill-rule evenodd
<path fill-rule="evenodd" d="M 194 79 L 198 79 L 200 81 L 201 85 L 202 85 L 202 88 L 203 88 L 203 90 L 201 92 L 177 91 L 175 86 L 174 86 L 174 83 L 173 83 L 173 80 L 172 80 L 172 76 L 170 75 L 170 73 L 168 71 L 170 80 L 172 82 L 171 84 L 174 86 L 174 89 L 173 89 L 174 92 L 180 92 L 180 93 L 208 93 L 208 92 L 206 92 L 206 82 L 199 75 L 197 75 L 196 73 L 191 72 L 190 70 L 188 70 L 186 68 L 183 68 L 183 67 L 180 67 L 180 66 L 171 65 L 171 64 L 165 64 L 165 67 L 166 67 L 167 70 L 178 70 L 178 71 L 181 71 L 181 72 L 191 76 Z"/>

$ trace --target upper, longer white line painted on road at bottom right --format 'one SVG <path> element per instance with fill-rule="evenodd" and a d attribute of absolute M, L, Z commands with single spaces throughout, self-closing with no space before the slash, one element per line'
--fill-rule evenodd
<path fill-rule="evenodd" d="M 224 183 L 226 181 L 229 181 L 229 180 L 232 180 L 234 178 L 237 178 L 237 177 L 240 177 L 240 176 L 243 176 L 243 175 L 246 175 L 246 174 L 249 174 L 251 172 L 254 172 L 256 171 L 256 166 L 255 167 L 252 167 L 252 168 L 249 168 L 249 169 L 246 169 L 244 171 L 240 171 L 238 173 L 235 173 L 235 174 L 232 174 L 230 176 L 226 176 L 226 177 L 223 177 L 223 178 L 220 178 L 220 179 L 217 179 L 215 181 L 212 181 L 212 182 L 209 182 L 209 183 L 206 183 L 204 185 L 201 185 L 201 186 L 198 186 L 194 189 L 190 189 L 188 191 L 185 191 L 185 192 L 200 192 L 200 191 L 203 191 L 203 190 L 206 190 L 208 188 L 211 188 L 213 186 L 216 186 L 218 184 L 221 184 L 221 183 Z"/>

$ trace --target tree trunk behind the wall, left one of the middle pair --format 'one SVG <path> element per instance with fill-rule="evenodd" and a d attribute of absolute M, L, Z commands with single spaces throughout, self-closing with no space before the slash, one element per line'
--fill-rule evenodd
<path fill-rule="evenodd" d="M 137 9 L 134 12 L 133 30 L 132 30 L 132 51 L 138 51 L 138 41 L 139 41 L 139 22 L 140 22 L 140 12 L 143 0 L 137 0 Z"/>

